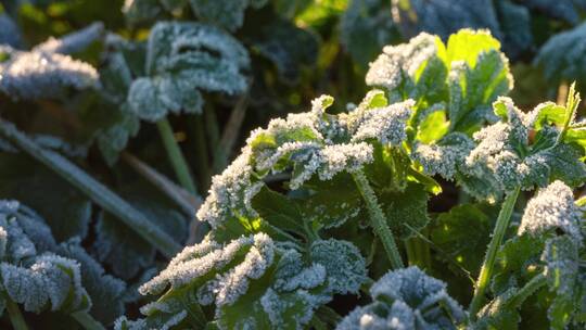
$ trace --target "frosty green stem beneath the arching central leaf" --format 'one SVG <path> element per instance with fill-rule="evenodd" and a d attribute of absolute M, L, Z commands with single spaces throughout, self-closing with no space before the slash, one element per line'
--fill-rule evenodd
<path fill-rule="evenodd" d="M 368 182 L 368 178 L 361 170 L 357 170 L 353 174 L 354 181 L 358 186 L 358 190 L 362 194 L 362 199 L 366 202 L 368 213 L 370 215 L 370 221 L 374 233 L 381 239 L 388 261 L 391 261 L 391 266 L 394 269 L 403 268 L 404 264 L 400 258 L 400 254 L 395 243 L 395 238 L 391 228 L 386 225 L 386 218 L 384 213 L 379 205 L 377 195 Z"/>

